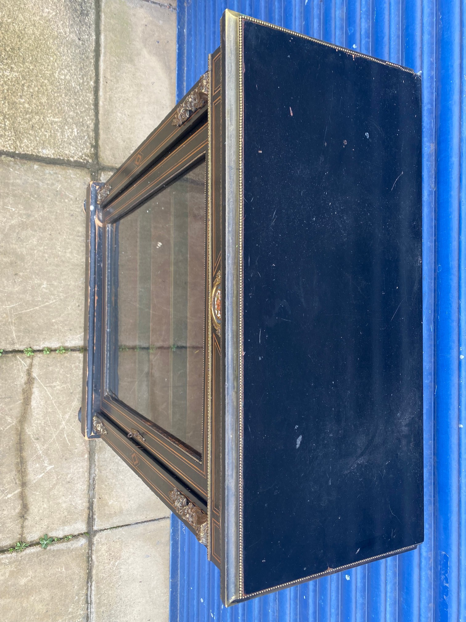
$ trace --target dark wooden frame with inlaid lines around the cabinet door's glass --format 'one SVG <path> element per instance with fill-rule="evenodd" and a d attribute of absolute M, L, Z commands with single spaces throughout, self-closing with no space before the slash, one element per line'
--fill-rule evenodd
<path fill-rule="evenodd" d="M 101 412 L 113 420 L 127 434 L 137 430 L 139 443 L 148 452 L 152 453 L 163 465 L 176 476 L 193 488 L 199 496 L 208 496 L 207 465 L 208 465 L 208 127 L 202 124 L 194 129 L 192 134 L 178 146 L 171 149 L 158 164 L 142 175 L 122 192 L 103 210 L 103 304 L 102 304 L 102 342 L 101 342 Z M 113 250 L 116 242 L 116 223 L 121 218 L 140 207 L 150 197 L 168 187 L 180 175 L 187 172 L 199 162 L 206 161 L 206 263 L 204 272 L 205 295 L 204 307 L 206 325 L 204 327 L 204 397 L 203 397 L 203 450 L 196 455 L 186 443 L 176 439 L 162 427 L 148 420 L 134 409 L 119 401 L 109 391 L 109 374 L 115 369 L 114 360 L 117 355 L 117 326 L 112 320 L 112 282 L 111 274 L 115 274 L 116 252 Z"/>

